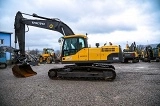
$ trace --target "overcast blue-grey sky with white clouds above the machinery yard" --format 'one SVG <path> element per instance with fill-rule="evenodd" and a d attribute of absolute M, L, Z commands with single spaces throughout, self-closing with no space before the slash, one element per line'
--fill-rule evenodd
<path fill-rule="evenodd" d="M 91 46 L 112 42 L 160 43 L 160 0 L 0 0 L 0 31 L 13 32 L 18 11 L 59 18 L 75 34 L 88 34 Z M 24 16 L 27 18 L 33 18 Z M 26 48 L 59 49 L 59 32 L 31 27 Z"/>

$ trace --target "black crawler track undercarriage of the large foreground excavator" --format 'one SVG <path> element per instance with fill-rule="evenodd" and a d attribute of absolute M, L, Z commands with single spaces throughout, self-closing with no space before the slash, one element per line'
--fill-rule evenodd
<path fill-rule="evenodd" d="M 50 79 L 57 78 L 100 78 L 112 81 L 116 78 L 115 68 L 107 64 L 92 66 L 66 65 L 63 68 L 53 68 L 48 71 Z"/>

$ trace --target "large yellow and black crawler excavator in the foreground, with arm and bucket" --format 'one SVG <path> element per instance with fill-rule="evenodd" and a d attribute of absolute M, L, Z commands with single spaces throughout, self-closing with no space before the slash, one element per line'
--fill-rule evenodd
<path fill-rule="evenodd" d="M 40 19 L 27 19 L 23 15 L 29 15 Z M 121 62 L 123 60 L 120 45 L 88 47 L 87 35 L 74 34 L 71 28 L 57 18 L 46 18 L 36 14 L 30 15 L 17 12 L 15 17 L 15 42 L 19 44 L 20 55 L 23 63 L 15 64 L 12 68 L 16 77 L 29 77 L 37 73 L 25 62 L 25 25 L 53 30 L 61 33 L 61 63 L 62 68 L 52 68 L 48 71 L 50 79 L 64 77 L 89 77 L 114 80 L 116 78 L 115 67 L 108 62 Z"/>

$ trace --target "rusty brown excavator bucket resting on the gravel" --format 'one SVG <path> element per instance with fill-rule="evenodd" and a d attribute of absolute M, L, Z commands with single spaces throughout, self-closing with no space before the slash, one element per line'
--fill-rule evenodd
<path fill-rule="evenodd" d="M 30 77 L 37 74 L 32 70 L 30 65 L 18 65 L 18 64 L 13 66 L 12 72 L 15 77 L 19 78 Z"/>

